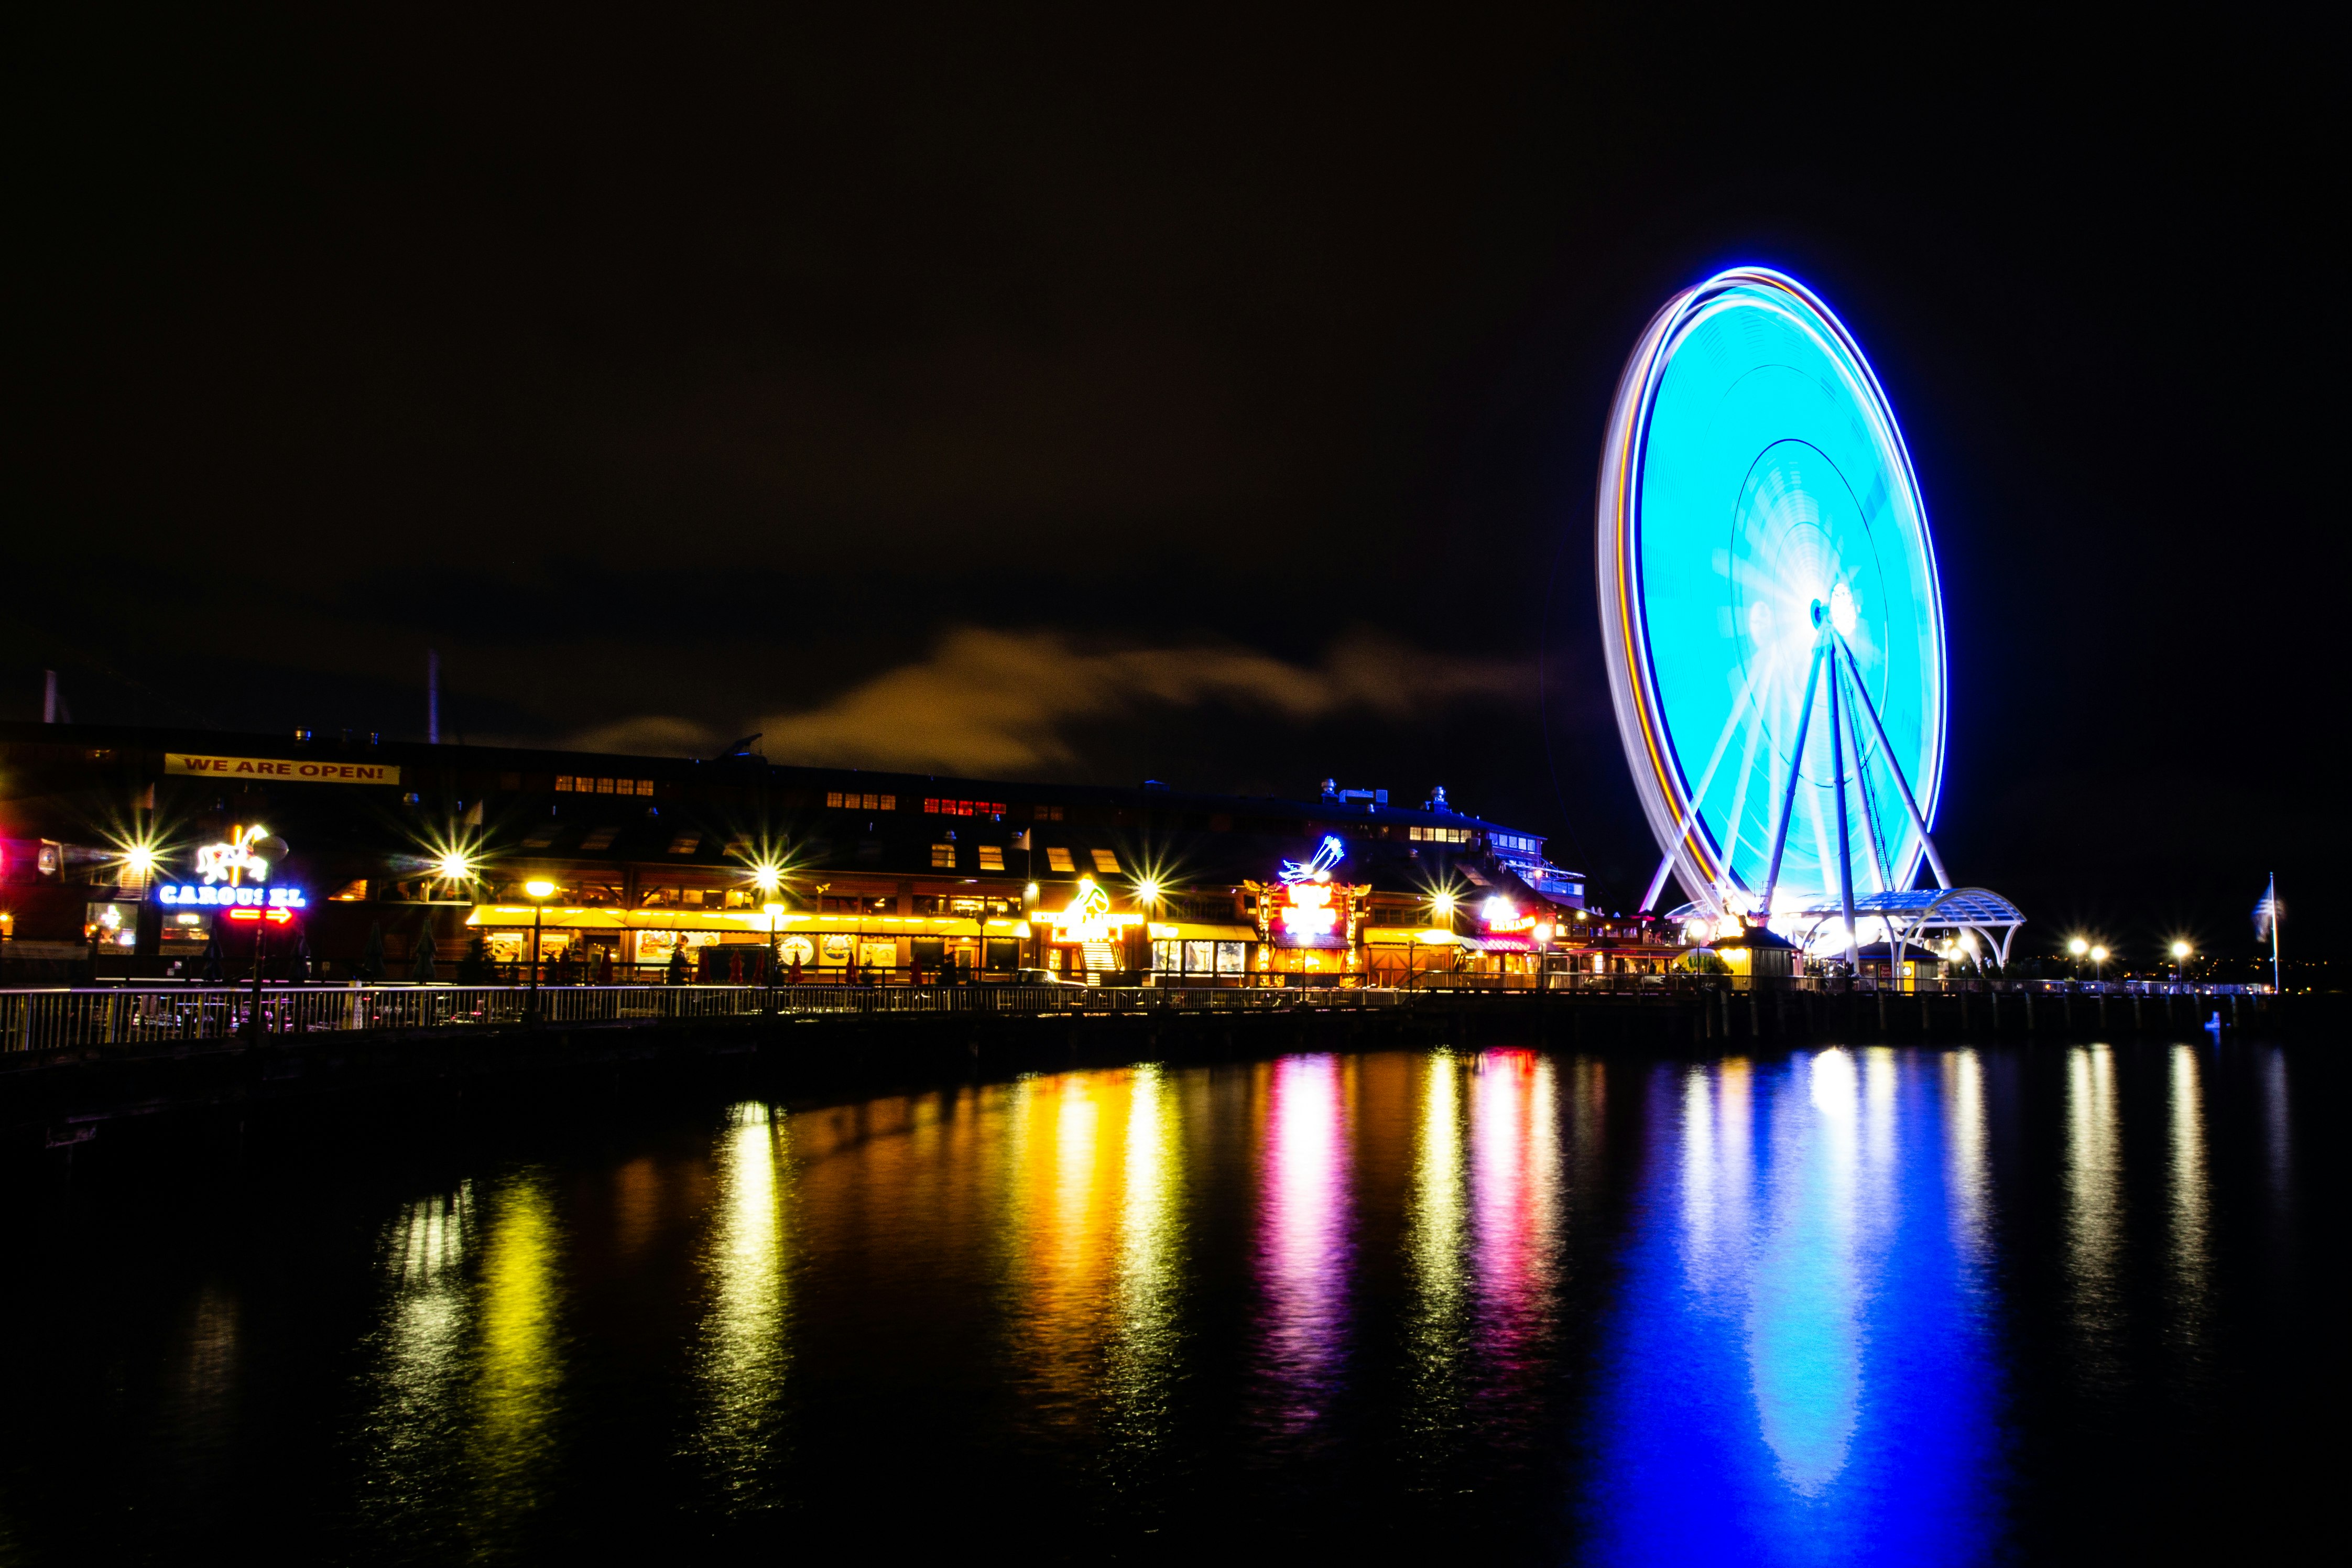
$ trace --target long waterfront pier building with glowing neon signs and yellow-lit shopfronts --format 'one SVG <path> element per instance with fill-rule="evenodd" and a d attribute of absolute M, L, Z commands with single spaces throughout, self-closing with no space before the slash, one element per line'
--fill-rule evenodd
<path fill-rule="evenodd" d="M 1395 985 L 1576 961 L 1583 877 L 1437 790 L 1312 797 L 0 724 L 19 978 Z M 536 891 L 534 891 L 536 889 Z M 426 954 L 430 954 L 426 959 Z"/>

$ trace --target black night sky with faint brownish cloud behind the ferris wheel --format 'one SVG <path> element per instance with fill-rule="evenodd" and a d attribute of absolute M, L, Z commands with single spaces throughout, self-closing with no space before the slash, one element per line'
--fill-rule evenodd
<path fill-rule="evenodd" d="M 85 722 L 421 733 L 435 646 L 452 738 L 1444 783 L 1630 905 L 1602 421 L 1651 310 L 1759 261 L 1912 444 L 1952 870 L 2030 945 L 2249 954 L 2270 870 L 2338 938 L 2317 31 L 73 26 L 9 49 L 5 717 L 56 668 Z"/>

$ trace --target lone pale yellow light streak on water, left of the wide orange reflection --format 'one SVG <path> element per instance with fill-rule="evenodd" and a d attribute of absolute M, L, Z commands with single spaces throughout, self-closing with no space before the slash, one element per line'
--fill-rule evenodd
<path fill-rule="evenodd" d="M 757 1486 L 776 1443 L 790 1340 L 786 1335 L 783 1126 L 764 1105 L 739 1105 L 720 1143 L 720 1201 L 703 1269 L 710 1307 L 696 1366 L 701 1453 L 734 1500 Z"/>

